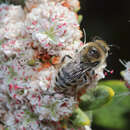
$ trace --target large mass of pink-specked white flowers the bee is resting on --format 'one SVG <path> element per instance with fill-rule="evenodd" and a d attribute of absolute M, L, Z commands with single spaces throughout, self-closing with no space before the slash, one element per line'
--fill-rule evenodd
<path fill-rule="evenodd" d="M 58 129 L 55 123 L 72 114 L 74 96 L 46 92 L 55 92 L 61 59 L 83 46 L 76 8 L 77 0 L 0 5 L 0 121 L 9 130 Z"/>

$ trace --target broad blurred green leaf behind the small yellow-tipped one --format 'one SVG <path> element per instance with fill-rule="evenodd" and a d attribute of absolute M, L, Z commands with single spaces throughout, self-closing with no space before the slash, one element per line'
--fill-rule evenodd
<path fill-rule="evenodd" d="M 109 80 L 100 82 L 98 86 L 105 85 L 115 91 L 112 101 L 94 111 L 94 123 L 102 127 L 122 128 L 127 125 L 124 117 L 130 109 L 130 96 L 123 81 Z"/>

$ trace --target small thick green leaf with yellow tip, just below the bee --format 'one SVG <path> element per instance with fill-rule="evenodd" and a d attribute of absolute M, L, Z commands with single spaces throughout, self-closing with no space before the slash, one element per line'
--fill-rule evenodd
<path fill-rule="evenodd" d="M 84 111 L 93 110 L 108 103 L 113 96 L 114 91 L 112 88 L 100 85 L 88 90 L 86 94 L 80 97 L 79 107 Z"/>

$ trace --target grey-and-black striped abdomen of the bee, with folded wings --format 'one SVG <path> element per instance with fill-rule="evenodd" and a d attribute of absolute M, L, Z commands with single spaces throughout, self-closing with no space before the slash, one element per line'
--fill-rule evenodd
<path fill-rule="evenodd" d="M 73 62 L 62 67 L 55 78 L 56 91 L 63 92 L 70 87 L 83 85 L 88 81 L 88 76 L 83 73 L 82 68 Z"/>

